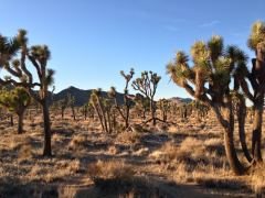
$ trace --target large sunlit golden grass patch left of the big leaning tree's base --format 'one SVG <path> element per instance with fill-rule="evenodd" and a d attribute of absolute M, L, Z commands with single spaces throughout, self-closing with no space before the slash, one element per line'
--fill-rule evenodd
<path fill-rule="evenodd" d="M 222 178 L 225 178 L 229 175 L 229 169 L 223 157 L 218 155 L 213 147 L 222 148 L 221 141 L 218 139 L 202 141 L 195 138 L 186 138 L 179 145 L 172 141 L 166 142 L 160 150 L 152 152 L 149 157 L 172 172 L 172 178 L 178 183 L 193 183 L 197 179 L 211 178 L 214 175 L 222 175 Z M 219 165 L 216 166 L 215 163 Z"/>

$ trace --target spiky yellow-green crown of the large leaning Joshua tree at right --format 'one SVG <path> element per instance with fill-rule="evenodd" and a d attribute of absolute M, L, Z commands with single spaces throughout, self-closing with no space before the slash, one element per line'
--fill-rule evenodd
<path fill-rule="evenodd" d="M 208 42 L 195 42 L 191 57 L 193 66 L 189 66 L 189 58 L 182 51 L 178 52 L 176 61 L 168 64 L 167 73 L 199 100 L 208 100 L 209 96 L 220 100 L 227 94 L 232 77 L 240 80 L 248 73 L 244 52 L 235 46 L 224 48 L 223 38 L 219 35 Z"/>

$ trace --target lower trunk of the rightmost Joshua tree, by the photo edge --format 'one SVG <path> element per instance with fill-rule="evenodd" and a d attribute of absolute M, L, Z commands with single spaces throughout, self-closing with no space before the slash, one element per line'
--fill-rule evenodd
<path fill-rule="evenodd" d="M 254 120 L 252 134 L 252 155 L 256 162 L 262 162 L 262 122 L 263 122 L 263 101 L 254 105 Z"/>

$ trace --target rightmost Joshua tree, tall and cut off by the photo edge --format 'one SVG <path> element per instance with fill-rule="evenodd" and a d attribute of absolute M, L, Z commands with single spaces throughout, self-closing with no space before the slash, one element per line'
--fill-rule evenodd
<path fill-rule="evenodd" d="M 247 80 L 254 90 L 251 94 L 245 79 L 241 79 L 241 86 L 247 98 L 253 102 L 254 122 L 252 136 L 252 155 L 256 162 L 262 162 L 262 123 L 265 92 L 265 23 L 257 21 L 253 24 L 248 37 L 248 47 L 255 52 L 252 59 L 252 70 L 247 74 Z"/>

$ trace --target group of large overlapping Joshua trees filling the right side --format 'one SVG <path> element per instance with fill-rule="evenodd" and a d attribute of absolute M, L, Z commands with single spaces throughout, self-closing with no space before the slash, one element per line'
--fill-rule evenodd
<path fill-rule="evenodd" d="M 208 42 L 195 42 L 191 47 L 192 66 L 188 55 L 180 51 L 168 64 L 171 79 L 193 98 L 210 107 L 224 129 L 224 146 L 231 168 L 237 175 L 262 160 L 262 122 L 265 92 L 265 24 L 253 24 L 248 47 L 255 52 L 252 69 L 247 69 L 246 54 L 234 45 L 224 46 L 221 36 Z M 254 120 L 252 148 L 245 140 L 246 99 L 253 103 Z M 240 142 L 250 165 L 239 160 L 234 130 L 237 117 Z"/>

